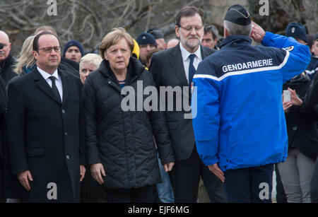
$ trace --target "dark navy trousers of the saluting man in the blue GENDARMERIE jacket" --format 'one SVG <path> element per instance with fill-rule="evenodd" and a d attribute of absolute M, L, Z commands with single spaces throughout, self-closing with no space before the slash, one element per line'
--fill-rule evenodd
<path fill-rule="evenodd" d="M 225 194 L 229 203 L 270 203 L 273 164 L 256 168 L 227 170 Z"/>

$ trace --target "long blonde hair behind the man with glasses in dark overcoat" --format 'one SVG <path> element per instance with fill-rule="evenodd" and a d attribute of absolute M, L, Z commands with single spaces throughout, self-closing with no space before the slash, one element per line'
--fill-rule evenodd
<path fill-rule="evenodd" d="M 14 67 L 14 72 L 16 74 L 22 74 L 23 66 L 26 68 L 35 64 L 35 59 L 33 57 L 33 40 L 35 35 L 31 35 L 25 39 L 22 45 L 22 49 L 16 61 Z"/>

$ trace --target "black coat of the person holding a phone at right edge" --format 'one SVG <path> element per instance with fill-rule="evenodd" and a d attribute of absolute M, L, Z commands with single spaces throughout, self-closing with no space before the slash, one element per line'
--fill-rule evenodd
<path fill-rule="evenodd" d="M 301 74 L 286 82 L 283 89 L 288 87 L 296 90 L 299 98 L 304 102 L 301 106 L 292 106 L 285 113 L 285 119 L 288 131 L 288 148 L 297 148 L 305 156 L 314 160 L 318 154 L 318 110 L 317 107 L 306 105 L 305 94 L 310 86 L 309 76 Z"/>

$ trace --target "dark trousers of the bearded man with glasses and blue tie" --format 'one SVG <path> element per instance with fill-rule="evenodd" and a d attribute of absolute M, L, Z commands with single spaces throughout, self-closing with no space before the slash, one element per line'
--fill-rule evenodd
<path fill-rule="evenodd" d="M 176 203 L 196 203 L 200 176 L 211 202 L 226 202 L 223 183 L 204 165 L 196 152 L 187 160 L 177 160 L 170 172 Z"/>

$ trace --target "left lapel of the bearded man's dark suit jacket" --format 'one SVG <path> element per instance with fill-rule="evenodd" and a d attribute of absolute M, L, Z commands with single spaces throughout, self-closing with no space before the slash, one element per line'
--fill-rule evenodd
<path fill-rule="evenodd" d="M 179 44 L 172 48 L 172 52 L 170 53 L 170 55 L 171 58 L 169 58 L 169 60 L 173 69 L 172 71 L 175 72 L 182 86 L 188 86 L 188 81 L 184 71 L 184 65 L 182 61 L 182 55 Z"/>

